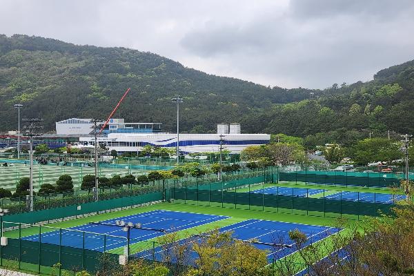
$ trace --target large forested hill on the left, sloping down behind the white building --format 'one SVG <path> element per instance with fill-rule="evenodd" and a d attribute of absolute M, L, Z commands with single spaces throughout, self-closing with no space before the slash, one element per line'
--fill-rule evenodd
<path fill-rule="evenodd" d="M 208 75 L 150 52 L 26 35 L 0 36 L 0 72 L 0 130 L 15 128 L 13 120 L 4 119 L 15 112 L 13 103 L 23 103 L 24 116 L 43 117 L 52 130 L 61 119 L 107 117 L 130 87 L 118 113 L 127 121 L 156 121 L 174 130 L 171 98 L 179 94 L 184 98 L 182 130 L 208 131 L 273 103 L 306 99 L 310 91 Z"/>

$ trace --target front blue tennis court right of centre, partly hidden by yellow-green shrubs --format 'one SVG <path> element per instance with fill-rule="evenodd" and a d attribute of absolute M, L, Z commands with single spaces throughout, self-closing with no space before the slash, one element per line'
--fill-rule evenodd
<path fill-rule="evenodd" d="M 274 259 L 280 259 L 287 255 L 294 253 L 295 242 L 289 238 L 289 231 L 298 229 L 308 237 L 306 245 L 311 242 L 317 242 L 329 235 L 339 232 L 339 228 L 325 227 L 325 226 L 312 226 L 306 224 L 294 224 L 280 221 L 266 221 L 261 219 L 248 219 L 246 221 L 238 222 L 230 226 L 225 226 L 219 229 L 220 232 L 232 231 L 235 239 L 252 240 L 255 239 L 259 243 L 253 243 L 253 245 L 262 250 L 268 250 L 268 260 L 272 262 Z M 199 239 L 183 239 L 181 244 L 190 244 L 192 242 L 201 242 L 203 237 Z M 282 247 L 272 244 L 285 244 L 292 246 Z M 145 257 L 147 259 L 156 259 L 162 261 L 165 255 L 165 247 L 159 246 L 155 248 L 155 251 L 144 250 L 135 254 L 135 257 Z M 197 253 L 192 253 L 193 260 L 197 258 Z"/>

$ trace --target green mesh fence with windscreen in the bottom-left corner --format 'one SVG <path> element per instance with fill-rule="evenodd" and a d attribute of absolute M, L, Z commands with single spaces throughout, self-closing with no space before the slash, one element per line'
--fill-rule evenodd
<path fill-rule="evenodd" d="M 44 274 L 52 274 L 55 270 L 57 275 L 65 270 L 87 270 L 95 275 L 99 271 L 120 268 L 119 255 L 90 249 L 91 243 L 96 244 L 96 237 L 89 241 L 85 233 L 79 231 L 79 244 L 75 246 L 76 235 L 64 234 L 65 231 L 68 230 L 3 222 L 7 245 L 0 247 L 1 266 Z"/>

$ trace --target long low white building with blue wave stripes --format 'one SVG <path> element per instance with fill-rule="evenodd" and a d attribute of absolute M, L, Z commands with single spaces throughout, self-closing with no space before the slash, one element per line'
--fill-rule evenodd
<path fill-rule="evenodd" d="M 268 144 L 267 134 L 227 134 L 223 137 L 224 150 L 239 153 L 248 146 Z M 139 152 L 146 145 L 175 148 L 177 134 L 171 133 L 109 133 L 98 138 L 99 145 L 117 152 Z M 93 137 L 80 137 L 79 144 L 94 146 Z M 219 152 L 219 134 L 180 134 L 179 150 L 183 153 Z"/>

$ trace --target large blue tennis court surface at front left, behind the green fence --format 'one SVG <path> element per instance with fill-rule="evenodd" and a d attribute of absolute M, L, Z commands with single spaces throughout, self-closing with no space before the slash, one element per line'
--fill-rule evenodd
<path fill-rule="evenodd" d="M 159 229 L 165 229 L 167 233 L 172 233 L 226 218 L 228 217 L 168 210 L 153 210 L 146 213 L 139 213 L 136 215 L 129 215 L 126 217 L 108 219 L 99 222 L 115 225 L 116 220 L 124 220 L 126 222 L 131 221 L 134 224 L 140 223 L 143 228 L 154 229 L 130 230 L 130 244 L 135 244 L 137 242 L 164 235 L 164 233 L 160 232 Z M 43 229 L 46 230 L 47 228 Z M 101 224 L 83 224 L 81 226 L 68 229 L 53 230 L 51 232 L 42 233 L 40 235 L 40 242 L 46 244 L 61 244 L 62 246 L 85 248 L 103 252 L 119 248 L 121 246 L 126 246 L 126 237 L 127 233 L 122 230 L 121 227 Z M 22 239 L 39 242 L 39 234 L 22 237 Z"/>

